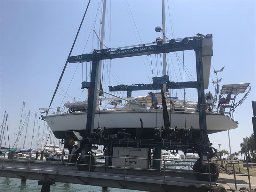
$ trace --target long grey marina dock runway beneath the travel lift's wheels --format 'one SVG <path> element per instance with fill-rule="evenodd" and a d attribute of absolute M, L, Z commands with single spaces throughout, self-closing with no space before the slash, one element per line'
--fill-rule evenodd
<path fill-rule="evenodd" d="M 2 165 L 2 166 L 1 166 Z M 29 161 L 29 160 L 0 160 L 0 176 L 19 178 L 22 180 L 38 180 L 43 187 L 54 182 L 67 182 L 83 185 L 123 188 L 143 191 L 195 191 L 205 192 L 216 186 L 214 182 L 198 181 L 193 172 L 165 172 L 164 170 L 131 170 L 111 169 L 97 164 L 93 172 L 78 171 L 76 166 L 61 165 L 60 162 Z M 44 190 L 47 191 L 47 190 Z"/>

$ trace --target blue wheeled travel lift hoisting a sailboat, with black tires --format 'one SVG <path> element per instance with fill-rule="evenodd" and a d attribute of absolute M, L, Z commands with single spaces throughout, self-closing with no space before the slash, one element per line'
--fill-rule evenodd
<path fill-rule="evenodd" d="M 132 47 L 132 46 L 130 46 Z M 105 148 L 104 156 L 109 156 L 105 159 L 105 165 L 111 166 L 111 157 L 113 155 L 113 147 L 134 147 L 134 148 L 148 148 L 153 149 L 153 159 L 161 159 L 161 149 L 178 151 L 181 150 L 184 153 L 197 153 L 200 159 L 194 164 L 193 172 L 197 180 L 209 181 L 209 175 L 198 174 L 209 173 L 207 163 L 211 158 L 215 156 L 216 149 L 214 149 L 210 143 L 207 135 L 206 127 L 206 114 L 205 114 L 205 98 L 204 88 L 208 88 L 209 82 L 209 71 L 211 66 L 212 57 L 212 34 L 206 36 L 197 34 L 193 37 L 186 37 L 183 39 L 171 39 L 170 41 L 163 42 L 162 39 L 157 38 L 152 45 L 146 46 L 145 44 L 137 47 L 126 49 L 111 49 L 94 50 L 93 53 L 82 54 L 77 56 L 68 57 L 69 63 L 76 62 L 90 62 L 92 61 L 92 72 L 91 82 L 84 82 L 84 88 L 90 88 L 90 96 L 88 97 L 88 114 L 85 135 L 82 137 L 78 132 L 67 131 L 65 133 L 64 148 L 68 147 L 69 140 L 75 137 L 75 141 L 78 144 L 72 149 L 71 154 L 79 155 L 90 155 L 89 156 L 71 156 L 68 163 L 78 164 L 89 164 L 96 165 L 96 159 L 89 153 L 95 146 L 92 145 L 103 145 Z M 136 137 L 130 139 L 129 132 L 119 131 L 117 138 L 110 137 L 108 134 L 108 128 L 99 127 L 95 132 L 94 127 L 94 115 L 96 106 L 97 95 L 97 83 L 98 83 L 98 72 L 99 72 L 99 61 L 106 59 L 116 59 L 124 57 L 133 57 L 141 55 L 159 54 L 194 50 L 196 52 L 196 76 L 197 81 L 194 82 L 180 82 L 179 86 L 177 83 L 169 81 L 168 76 L 154 77 L 153 84 L 147 84 L 144 86 L 144 90 L 159 89 L 161 88 L 162 102 L 163 102 L 163 118 L 164 127 L 156 127 L 152 139 L 143 138 L 143 125 L 141 121 L 141 127 L 136 130 Z M 204 67 L 204 68 L 203 68 Z M 204 71 L 206 73 L 204 74 Z M 204 80 L 204 75 L 207 78 Z M 204 84 L 205 82 L 205 84 Z M 183 89 L 183 88 L 196 88 L 198 94 L 198 111 L 199 111 L 199 130 L 195 130 L 192 127 L 184 129 L 178 129 L 177 127 L 170 127 L 170 120 L 168 116 L 166 101 L 164 97 L 164 84 L 167 84 L 168 89 Z M 147 88 L 146 88 L 147 87 Z M 150 87 L 150 88 L 148 88 Z M 141 87 L 140 87 L 141 88 Z M 130 87 L 129 87 L 130 89 Z M 128 90 L 129 90 L 128 89 Z M 134 90 L 134 89 L 133 89 Z M 133 91 L 130 89 L 130 91 Z M 110 88 L 111 91 L 111 88 Z M 128 95 L 130 96 L 130 95 Z M 78 157 L 78 159 L 77 159 Z M 150 158 L 150 157 L 149 157 Z M 88 165 L 78 165 L 80 171 L 88 171 Z M 153 161 L 153 169 L 160 169 L 160 161 Z M 91 171 L 95 169 L 95 166 L 91 167 Z M 210 164 L 211 181 L 215 182 L 219 177 L 218 168 L 215 164 Z M 197 172 L 197 173 L 195 173 Z M 214 174 L 216 173 L 216 174 Z"/>

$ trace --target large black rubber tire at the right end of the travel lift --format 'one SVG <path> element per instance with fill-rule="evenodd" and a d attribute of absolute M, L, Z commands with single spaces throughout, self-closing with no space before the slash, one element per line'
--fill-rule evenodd
<path fill-rule="evenodd" d="M 209 175 L 207 174 L 200 174 L 200 173 L 209 173 L 209 169 L 208 169 L 208 164 L 203 164 L 203 163 L 199 163 L 200 161 L 202 161 L 201 159 L 198 159 L 194 166 L 193 166 L 193 172 L 194 172 L 194 176 L 196 177 L 197 180 L 199 181 L 210 181 Z M 211 169 L 211 173 L 215 175 L 211 175 L 211 182 L 216 182 L 217 179 L 219 178 L 219 170 L 216 164 L 210 164 L 210 169 Z M 198 172 L 198 173 L 196 173 Z"/>

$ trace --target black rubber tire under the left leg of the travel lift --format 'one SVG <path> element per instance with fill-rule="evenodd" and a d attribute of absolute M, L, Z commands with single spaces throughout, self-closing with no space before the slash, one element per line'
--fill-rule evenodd
<path fill-rule="evenodd" d="M 89 156 L 79 156 L 77 159 L 77 164 L 86 164 L 86 165 L 77 165 L 77 168 L 79 171 L 89 171 L 89 164 L 90 164 L 90 158 L 91 158 L 91 169 L 90 171 L 94 171 L 96 168 L 96 158 L 88 153 L 87 155 Z"/>

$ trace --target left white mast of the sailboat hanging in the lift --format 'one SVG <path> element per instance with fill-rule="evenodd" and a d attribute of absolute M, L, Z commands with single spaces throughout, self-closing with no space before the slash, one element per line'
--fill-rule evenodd
<path fill-rule="evenodd" d="M 101 32 L 100 32 L 100 50 L 103 49 L 103 44 L 104 44 L 104 31 L 105 31 L 105 18 L 106 18 L 106 4 L 107 4 L 107 0 L 103 0 Z M 98 73 L 97 89 L 100 89 L 101 66 L 102 66 L 102 60 L 99 61 L 99 73 Z M 96 95 L 96 106 L 98 106 L 99 94 L 100 94 L 100 91 L 97 91 L 97 95 Z"/>

